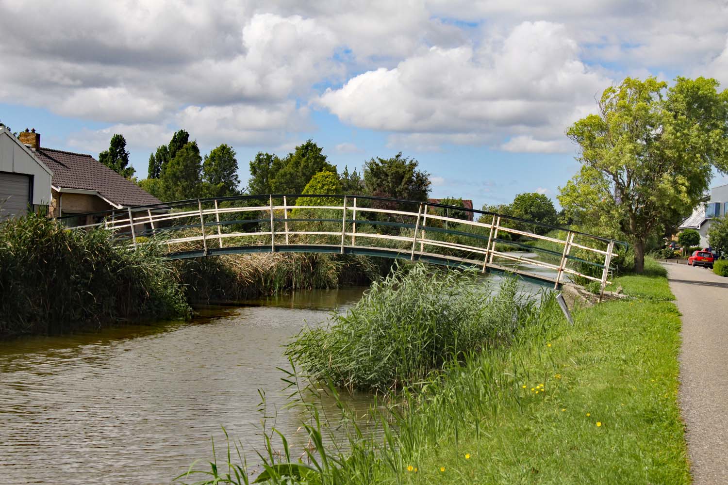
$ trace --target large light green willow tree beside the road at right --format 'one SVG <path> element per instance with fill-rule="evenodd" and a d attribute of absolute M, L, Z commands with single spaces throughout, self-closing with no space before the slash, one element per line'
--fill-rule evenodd
<path fill-rule="evenodd" d="M 627 78 L 604 90 L 598 114 L 566 131 L 582 168 L 558 200 L 589 231 L 625 237 L 635 269 L 646 241 L 676 225 L 700 201 L 713 168 L 728 172 L 728 90 L 715 79 L 678 77 L 673 87 Z"/>

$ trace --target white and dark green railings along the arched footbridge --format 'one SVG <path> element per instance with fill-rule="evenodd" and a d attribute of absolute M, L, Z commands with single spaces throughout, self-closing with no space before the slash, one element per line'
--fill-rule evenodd
<path fill-rule="evenodd" d="M 325 199 L 342 199 L 341 206 L 339 205 L 325 205 L 325 206 L 317 206 L 317 205 L 304 205 L 301 204 L 302 199 L 306 198 L 325 198 Z M 274 204 L 274 201 L 277 201 L 278 199 L 282 199 L 282 204 Z M 291 199 L 295 199 L 296 203 L 291 204 Z M 386 201 L 389 204 L 408 204 L 411 207 L 418 207 L 418 211 L 414 212 L 414 210 L 406 210 L 406 207 L 397 207 L 395 208 L 384 208 L 384 207 L 367 207 L 371 204 L 367 204 L 364 207 L 359 205 L 357 207 L 357 200 L 365 200 L 365 201 Z M 255 205 L 255 206 L 234 206 L 234 207 L 220 207 L 221 202 L 234 202 L 234 201 L 261 201 L 263 204 L 261 205 Z M 348 204 L 347 204 L 348 202 Z M 209 206 L 210 204 L 214 204 L 214 207 L 206 207 L 203 208 L 203 204 L 205 206 Z M 194 209 L 192 209 L 192 207 Z M 195 207 L 196 206 L 196 207 Z M 189 209 L 188 209 L 189 208 Z M 440 209 L 453 209 L 456 211 L 460 211 L 461 213 L 467 213 L 472 212 L 474 215 L 486 215 L 491 216 L 490 222 L 481 222 L 483 219 L 482 217 L 479 217 L 479 220 L 467 220 L 467 219 L 461 219 L 459 217 L 449 217 L 448 215 L 440 215 L 440 214 L 433 214 L 428 213 L 428 210 L 431 208 L 440 208 Z M 179 212 L 173 212 L 174 209 L 181 209 Z M 188 209 L 188 210 L 185 210 Z M 328 210 L 334 210 L 334 211 L 340 211 L 341 212 L 341 219 L 331 219 L 330 217 L 327 217 L 325 219 L 315 219 L 315 218 L 305 218 L 306 221 L 311 222 L 328 222 L 328 223 L 336 223 L 338 221 L 341 221 L 341 231 L 290 231 L 289 230 L 289 223 L 298 223 L 301 222 L 296 217 L 293 217 L 292 219 L 288 219 L 288 211 L 289 210 L 301 210 L 301 209 L 314 209 L 314 210 L 320 210 L 320 209 L 328 209 Z M 404 209 L 404 210 L 403 210 Z M 146 215 L 139 215 L 139 212 L 146 211 Z M 154 213 L 152 212 L 154 211 Z M 283 212 L 284 217 L 277 217 L 276 212 Z M 416 224 L 411 223 L 403 223 L 403 222 L 392 222 L 392 221 L 383 221 L 383 220 L 361 220 L 357 219 L 357 211 L 360 213 L 362 212 L 368 212 L 368 213 L 375 213 L 375 214 L 383 214 L 391 217 L 392 215 L 399 216 L 400 220 L 402 220 L 403 217 L 416 217 Z M 220 216 L 221 215 L 230 215 L 235 213 L 242 213 L 242 212 L 269 212 L 269 217 L 266 219 L 262 218 L 256 218 L 255 220 L 237 220 L 233 223 L 237 224 L 246 224 L 246 223 L 270 223 L 270 230 L 269 231 L 256 231 L 254 233 L 251 232 L 235 232 L 235 233 L 222 233 L 221 227 L 226 224 L 230 224 L 229 221 L 221 221 Z M 353 212 L 353 217 L 349 219 L 347 217 L 347 212 Z M 447 212 L 445 212 L 447 214 Z M 593 234 L 588 233 L 582 233 L 579 231 L 573 231 L 569 228 L 560 228 L 558 226 L 553 225 L 547 225 L 543 223 L 537 223 L 535 221 L 529 221 L 522 219 L 520 217 L 513 217 L 509 215 L 501 215 L 497 214 L 495 212 L 487 212 L 487 211 L 480 211 L 477 209 L 466 209 L 464 207 L 456 207 L 456 206 L 448 206 L 446 204 L 437 204 L 437 203 L 430 203 L 427 201 L 409 201 L 409 200 L 403 200 L 403 199 L 387 199 L 384 197 L 376 197 L 376 196 L 349 196 L 349 195 L 343 195 L 343 194 L 266 194 L 266 195 L 256 195 L 256 196 L 233 196 L 233 197 L 222 197 L 222 198 L 210 198 L 210 199 L 188 199 L 186 201 L 173 201 L 170 203 L 161 203 L 161 204 L 147 204 L 147 205 L 141 205 L 141 206 L 134 206 L 134 207 L 125 207 L 124 209 L 114 209 L 111 211 L 103 211 L 103 212 L 93 212 L 90 214 L 87 214 L 86 216 L 95 216 L 95 217 L 103 217 L 103 220 L 99 223 L 92 223 L 92 224 L 85 224 L 85 225 L 76 225 L 71 228 L 92 228 L 92 227 L 100 227 L 103 226 L 105 228 L 110 228 L 113 231 L 129 231 L 131 233 L 131 239 L 132 244 L 134 247 L 137 245 L 137 235 L 135 233 L 135 227 L 138 225 L 145 225 L 149 224 L 151 225 L 151 233 L 156 234 L 157 231 L 171 231 L 171 230 L 182 230 L 182 229 L 191 229 L 191 228 L 200 228 L 201 230 L 201 236 L 186 236 L 182 238 L 177 239 L 170 239 L 168 241 L 165 241 L 166 244 L 175 244 L 175 243 L 183 243 L 183 242 L 190 242 L 190 241 L 202 241 L 205 246 L 205 254 L 207 254 L 207 240 L 218 240 L 219 245 L 221 249 L 223 248 L 222 240 L 225 238 L 230 237 L 238 237 L 238 236 L 265 236 L 270 237 L 271 239 L 271 250 L 275 251 L 276 246 L 276 236 L 285 236 L 285 244 L 288 244 L 289 236 L 297 236 L 297 235 L 320 235 L 320 236 L 341 236 L 341 252 L 344 252 L 344 246 L 345 246 L 345 239 L 347 237 L 351 238 L 352 244 L 347 245 L 347 247 L 355 247 L 355 238 L 356 237 L 365 237 L 365 238 L 373 238 L 373 239 L 389 239 L 389 240 L 395 240 L 395 241 L 406 241 L 409 244 L 409 241 L 412 243 L 411 247 L 411 258 L 414 259 L 415 254 L 418 254 L 418 257 L 422 257 L 425 254 L 424 252 L 424 246 L 435 246 L 435 247 L 441 247 L 446 249 L 454 249 L 464 252 L 470 252 L 472 254 L 484 254 L 485 258 L 483 260 L 483 271 L 486 270 L 488 265 L 493 265 L 494 257 L 503 258 L 506 260 L 515 260 L 518 262 L 527 262 L 531 265 L 537 265 L 542 268 L 547 268 L 550 270 L 556 270 L 557 276 L 555 278 L 555 286 L 558 286 L 561 282 L 561 276 L 564 273 L 573 274 L 576 276 L 581 276 L 583 278 L 587 278 L 590 281 L 598 281 L 601 283 L 601 292 L 604 293 L 604 287 L 608 283 L 606 281 L 606 277 L 609 273 L 609 264 L 612 259 L 612 257 L 616 256 L 617 253 L 614 252 L 614 245 L 615 244 L 621 244 L 626 246 L 625 243 L 622 241 L 617 241 L 614 239 L 607 239 L 601 236 L 596 236 Z M 206 216 L 215 216 L 215 221 L 206 221 Z M 67 217 L 79 217 L 79 215 L 70 215 L 66 217 L 60 217 L 61 220 L 66 219 Z M 155 225 L 159 225 L 159 223 L 165 223 L 167 221 L 172 220 L 179 220 L 184 218 L 194 217 L 195 219 L 199 218 L 199 223 L 193 223 L 193 224 L 183 224 L 181 226 L 176 226 L 174 228 L 157 228 Z M 446 228 L 434 228 L 432 225 L 427 225 L 427 219 L 430 220 L 439 220 L 445 223 Z M 475 219 L 475 217 L 474 217 Z M 558 231 L 564 231 L 566 233 L 566 239 L 558 239 L 552 236 L 545 236 L 538 233 L 531 233 L 529 231 L 523 231 L 521 229 L 516 228 L 509 228 L 505 225 L 502 225 L 503 220 L 508 221 L 516 221 L 519 223 L 524 223 L 528 225 L 534 225 L 541 228 L 549 228 L 552 230 L 558 230 Z M 285 231 L 276 231 L 275 230 L 275 223 L 285 223 Z M 392 236 L 390 234 L 381 234 L 381 233 L 368 233 L 368 232 L 357 232 L 356 231 L 356 225 L 357 223 L 362 224 L 371 224 L 371 225 L 392 225 L 397 228 L 406 228 L 409 230 L 414 229 L 414 236 Z M 485 234 L 477 234 L 477 233 L 466 233 L 464 231 L 457 231 L 455 229 L 449 229 L 447 228 L 448 223 L 461 225 L 459 226 L 462 228 L 464 226 L 470 226 L 472 228 L 482 228 L 486 230 L 486 233 L 489 231 L 489 235 L 486 238 Z M 352 231 L 347 231 L 347 224 L 352 225 Z M 217 234 L 215 233 L 206 233 L 205 228 L 211 228 L 216 227 L 217 228 Z M 234 230 L 234 229 L 233 229 Z M 451 233 L 457 236 L 465 236 L 470 238 L 479 239 L 482 241 L 488 241 L 486 244 L 486 247 L 483 248 L 482 246 L 472 246 L 469 244 L 461 244 L 460 242 L 454 242 L 454 241 L 438 241 L 436 239 L 428 239 L 425 233 L 427 231 L 434 231 L 434 232 L 443 232 L 443 233 Z M 552 264 L 550 262 L 544 262 L 539 260 L 534 260 L 530 257 L 524 257 L 524 256 L 514 256 L 513 254 L 508 254 L 502 251 L 498 251 L 496 249 L 496 243 L 502 243 L 504 242 L 502 238 L 499 238 L 499 232 L 501 233 L 510 233 L 513 235 L 518 236 L 527 236 L 531 239 L 539 239 L 542 241 L 549 241 L 551 243 L 555 244 L 561 244 L 563 245 L 563 252 L 561 253 L 561 262 L 558 265 Z M 143 234 L 148 233 L 146 230 L 143 231 Z M 141 235 L 141 234 L 140 234 Z M 587 238 L 601 241 L 603 243 L 607 244 L 606 250 L 598 249 L 596 247 L 590 247 L 586 246 L 585 244 L 579 244 L 574 241 L 575 236 L 585 236 Z M 416 252 L 416 244 L 420 244 L 419 252 Z M 280 243 L 279 243 L 280 245 Z M 310 245 L 308 245 L 310 246 Z M 315 244 L 314 244 L 315 246 Z M 323 247 L 323 246 L 322 246 Z M 597 262 L 591 262 L 582 260 L 581 258 L 574 257 L 573 255 L 569 254 L 571 248 L 578 248 L 585 250 L 587 252 L 593 252 L 596 254 L 600 254 L 601 256 L 604 256 L 604 264 L 597 263 Z M 543 248 L 533 248 L 536 250 L 541 250 Z M 328 251 L 328 249 L 327 249 Z M 558 255 L 558 252 L 553 251 L 553 249 L 544 249 L 545 252 L 553 255 Z M 602 276 L 601 278 L 596 278 L 594 276 L 586 275 L 579 273 L 579 271 L 574 270 L 572 268 L 568 268 L 566 266 L 566 262 L 569 260 L 577 260 L 580 262 L 587 262 L 590 265 L 597 266 L 599 268 L 603 268 Z"/>

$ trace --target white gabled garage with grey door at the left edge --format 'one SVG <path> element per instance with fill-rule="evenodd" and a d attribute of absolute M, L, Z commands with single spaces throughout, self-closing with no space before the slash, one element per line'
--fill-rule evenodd
<path fill-rule="evenodd" d="M 51 200 L 52 172 L 7 127 L 0 127 L 0 220 Z"/>

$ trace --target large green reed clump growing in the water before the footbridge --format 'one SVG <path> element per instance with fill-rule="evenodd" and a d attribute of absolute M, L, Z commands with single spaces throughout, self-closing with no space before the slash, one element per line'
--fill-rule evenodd
<path fill-rule="evenodd" d="M 375 281 L 330 326 L 304 329 L 286 352 L 314 380 L 386 391 L 507 342 L 534 305 L 519 294 L 515 278 L 491 292 L 476 271 L 412 265 Z"/>

